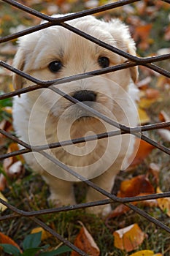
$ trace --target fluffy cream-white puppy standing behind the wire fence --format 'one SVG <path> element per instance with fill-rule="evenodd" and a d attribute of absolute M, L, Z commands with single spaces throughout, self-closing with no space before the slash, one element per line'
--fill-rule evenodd
<path fill-rule="evenodd" d="M 106 23 L 88 16 L 68 23 L 109 45 L 135 55 L 134 40 L 120 20 L 114 19 Z M 123 64 L 125 61 L 127 59 L 124 57 L 72 31 L 61 26 L 52 26 L 20 39 L 14 67 L 34 78 L 53 80 Z M 134 85 L 137 75 L 137 68 L 131 67 L 106 75 L 55 84 L 54 87 L 84 102 L 104 116 L 128 127 L 134 127 L 138 122 L 138 90 Z M 13 76 L 13 83 L 15 89 L 33 85 L 16 74 Z M 16 134 L 31 146 L 117 130 L 51 89 L 38 89 L 15 97 L 13 118 Z M 58 159 L 61 165 L 67 165 L 85 179 L 92 180 L 98 187 L 111 192 L 117 172 L 120 168 L 127 167 L 127 160 L 133 150 L 133 135 L 119 135 L 61 146 L 46 152 Z M 73 183 L 79 181 L 78 178 L 39 153 L 25 154 L 24 157 L 28 165 L 40 173 L 49 184 L 50 200 L 53 200 L 56 206 L 75 203 Z M 104 195 L 89 187 L 87 202 L 104 198 Z M 89 209 L 96 214 L 107 214 L 111 208 L 107 205 Z"/>

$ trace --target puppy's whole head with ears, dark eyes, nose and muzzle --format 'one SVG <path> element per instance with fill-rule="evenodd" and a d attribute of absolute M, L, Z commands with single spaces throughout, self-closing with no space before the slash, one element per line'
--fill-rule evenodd
<path fill-rule="evenodd" d="M 88 16 L 68 23 L 109 45 L 135 54 L 134 41 L 126 26 L 119 20 L 105 23 Z M 101 48 L 72 31 L 53 26 L 23 37 L 14 64 L 15 67 L 35 78 L 53 80 L 123 64 L 125 61 L 122 56 Z M 136 77 L 137 70 L 133 67 L 56 87 L 81 102 L 88 102 L 90 107 L 113 118 L 113 113 L 115 116 L 120 116 L 116 99 L 125 97 L 124 93 L 128 90 L 131 78 L 135 81 Z M 29 85 L 31 82 L 14 75 L 16 89 Z M 39 96 L 40 92 L 36 91 L 37 94 Z M 72 102 L 68 102 L 49 89 L 46 89 L 41 97 L 56 117 L 63 115 L 63 118 L 73 116 L 80 119 L 82 116 L 89 116 L 89 113 L 82 112 Z"/>

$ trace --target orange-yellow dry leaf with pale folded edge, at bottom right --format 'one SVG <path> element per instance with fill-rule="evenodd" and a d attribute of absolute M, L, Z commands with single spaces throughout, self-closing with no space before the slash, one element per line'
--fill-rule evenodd
<path fill-rule="evenodd" d="M 113 236 L 115 238 L 115 247 L 125 250 L 126 252 L 131 252 L 134 249 L 138 249 L 146 235 L 142 232 L 139 225 L 135 223 L 128 227 L 121 228 L 120 230 L 116 230 Z"/>

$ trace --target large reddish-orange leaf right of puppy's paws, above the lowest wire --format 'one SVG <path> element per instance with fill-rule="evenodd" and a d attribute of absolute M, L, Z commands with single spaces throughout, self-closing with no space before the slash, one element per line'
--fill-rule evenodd
<path fill-rule="evenodd" d="M 125 180 L 120 184 L 118 197 L 135 197 L 141 194 L 153 194 L 154 188 L 148 178 L 144 175 L 139 175 L 129 180 Z"/>

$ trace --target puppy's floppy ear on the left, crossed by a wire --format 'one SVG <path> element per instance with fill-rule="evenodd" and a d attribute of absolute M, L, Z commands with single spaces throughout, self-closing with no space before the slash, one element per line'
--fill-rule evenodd
<path fill-rule="evenodd" d="M 13 66 L 16 69 L 20 69 L 21 71 L 23 71 L 23 68 L 25 66 L 25 53 L 23 48 L 19 48 L 18 52 L 16 53 Z M 14 73 L 12 81 L 15 90 L 21 89 L 23 87 L 24 78 L 22 76 Z"/>

